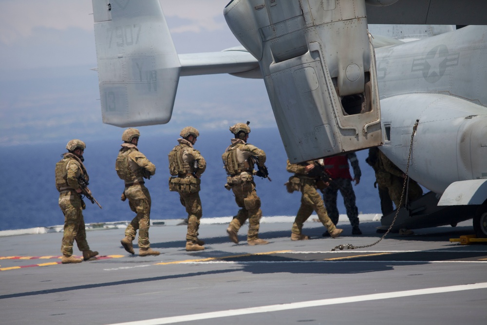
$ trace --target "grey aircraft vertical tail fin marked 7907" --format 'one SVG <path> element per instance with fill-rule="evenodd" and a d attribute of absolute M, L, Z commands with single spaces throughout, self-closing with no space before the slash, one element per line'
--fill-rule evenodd
<path fill-rule="evenodd" d="M 93 0 L 103 123 L 169 122 L 181 64 L 159 0 Z"/>

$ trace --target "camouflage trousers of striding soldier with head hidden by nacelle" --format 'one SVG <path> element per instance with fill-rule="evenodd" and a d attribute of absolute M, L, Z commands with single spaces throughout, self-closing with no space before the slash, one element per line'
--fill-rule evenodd
<path fill-rule="evenodd" d="M 316 181 L 311 179 L 301 179 L 301 206 L 294 219 L 291 232 L 300 235 L 303 224 L 311 216 L 313 211 L 318 215 L 319 221 L 328 231 L 334 231 L 335 225 L 328 217 L 323 200 L 316 190 Z"/>

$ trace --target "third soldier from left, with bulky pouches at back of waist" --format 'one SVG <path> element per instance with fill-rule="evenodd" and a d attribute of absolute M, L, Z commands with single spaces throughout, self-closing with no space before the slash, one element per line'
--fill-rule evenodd
<path fill-rule="evenodd" d="M 186 250 L 202 250 L 205 242 L 198 239 L 200 219 L 203 214 L 200 200 L 200 179 L 206 169 L 205 158 L 193 149 L 198 130 L 187 126 L 178 139 L 179 144 L 169 153 L 169 190 L 177 191 L 187 212 Z"/>

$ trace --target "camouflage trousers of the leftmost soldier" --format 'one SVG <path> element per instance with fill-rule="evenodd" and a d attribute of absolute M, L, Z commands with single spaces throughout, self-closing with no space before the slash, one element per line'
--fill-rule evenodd
<path fill-rule="evenodd" d="M 73 255 L 73 243 L 80 251 L 89 250 L 86 241 L 85 221 L 82 213 L 82 203 L 79 194 L 75 191 L 59 193 L 59 207 L 64 213 L 64 233 L 62 237 L 61 253 L 66 256 Z"/>

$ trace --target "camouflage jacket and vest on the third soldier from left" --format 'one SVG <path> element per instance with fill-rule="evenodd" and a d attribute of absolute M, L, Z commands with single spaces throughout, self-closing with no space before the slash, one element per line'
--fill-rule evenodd
<path fill-rule="evenodd" d="M 178 166 L 178 176 L 186 177 L 187 174 L 191 174 L 196 178 L 200 178 L 206 170 L 205 158 L 203 158 L 198 150 L 193 148 L 191 142 L 185 139 L 178 139 L 178 142 L 179 145 L 175 146 L 173 149 L 178 151 L 179 158 L 181 159 L 181 163 L 178 164 L 175 162 L 176 166 Z M 171 165 L 170 161 L 169 165 Z"/>

